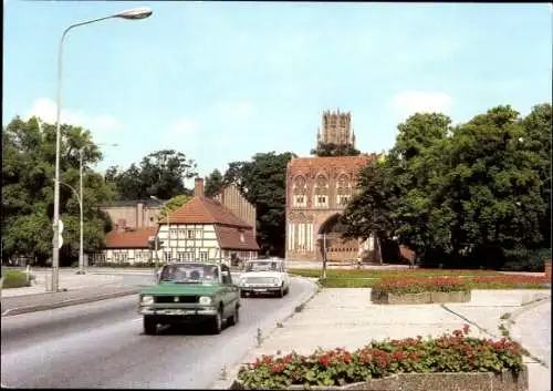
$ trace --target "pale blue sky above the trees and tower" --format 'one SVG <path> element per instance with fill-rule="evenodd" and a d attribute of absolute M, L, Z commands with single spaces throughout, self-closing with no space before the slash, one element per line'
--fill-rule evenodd
<path fill-rule="evenodd" d="M 351 111 L 358 148 L 380 152 L 416 111 L 462 122 L 551 102 L 546 3 L 4 0 L 3 124 L 53 122 L 63 29 L 134 7 L 154 14 L 77 28 L 64 47 L 63 119 L 118 144 L 100 169 L 160 148 L 200 175 L 257 152 L 305 156 L 324 110 Z"/>

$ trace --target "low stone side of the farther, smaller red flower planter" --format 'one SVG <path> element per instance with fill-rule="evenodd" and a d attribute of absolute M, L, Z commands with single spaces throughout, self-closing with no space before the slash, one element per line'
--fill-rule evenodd
<path fill-rule="evenodd" d="M 376 305 L 430 305 L 442 302 L 469 302 L 470 290 L 452 292 L 389 294 L 371 290 L 371 301 Z"/>

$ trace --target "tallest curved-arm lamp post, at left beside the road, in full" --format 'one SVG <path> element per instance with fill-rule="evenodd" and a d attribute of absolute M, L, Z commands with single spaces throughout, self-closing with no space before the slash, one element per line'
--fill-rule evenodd
<path fill-rule="evenodd" d="M 54 239 L 52 248 L 52 290 L 59 290 L 59 274 L 60 274 L 60 144 L 61 144 L 61 105 L 62 105 L 62 59 L 63 59 L 63 42 L 65 35 L 71 29 L 80 25 L 91 24 L 100 22 L 107 19 L 121 18 L 128 20 L 145 19 L 152 16 L 152 10 L 149 8 L 137 8 L 128 11 L 123 11 L 114 13 L 108 17 L 92 19 L 84 22 L 79 22 L 71 24 L 69 28 L 63 30 L 62 38 L 60 40 L 60 49 L 58 53 L 58 94 L 56 94 L 56 114 L 55 114 L 55 181 L 54 181 Z"/>

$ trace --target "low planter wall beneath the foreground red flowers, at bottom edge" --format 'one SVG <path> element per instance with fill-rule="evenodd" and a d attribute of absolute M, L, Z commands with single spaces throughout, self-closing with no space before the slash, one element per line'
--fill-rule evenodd
<path fill-rule="evenodd" d="M 234 381 L 231 390 L 249 390 Z M 303 385 L 290 385 L 286 390 L 305 390 Z M 528 371 L 518 375 L 511 372 L 460 372 L 460 373 L 399 373 L 384 379 L 342 387 L 313 385 L 310 390 L 366 390 L 366 391 L 528 391 Z"/>

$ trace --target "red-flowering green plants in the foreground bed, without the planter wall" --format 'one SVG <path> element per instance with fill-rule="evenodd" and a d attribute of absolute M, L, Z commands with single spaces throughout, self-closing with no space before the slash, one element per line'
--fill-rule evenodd
<path fill-rule="evenodd" d="M 523 370 L 520 344 L 505 338 L 477 339 L 468 332 L 465 325 L 462 330 L 437 339 L 373 341 L 354 352 L 319 349 L 310 356 L 262 356 L 240 368 L 238 381 L 250 389 L 285 389 L 293 384 L 344 385 L 394 373 Z"/>

